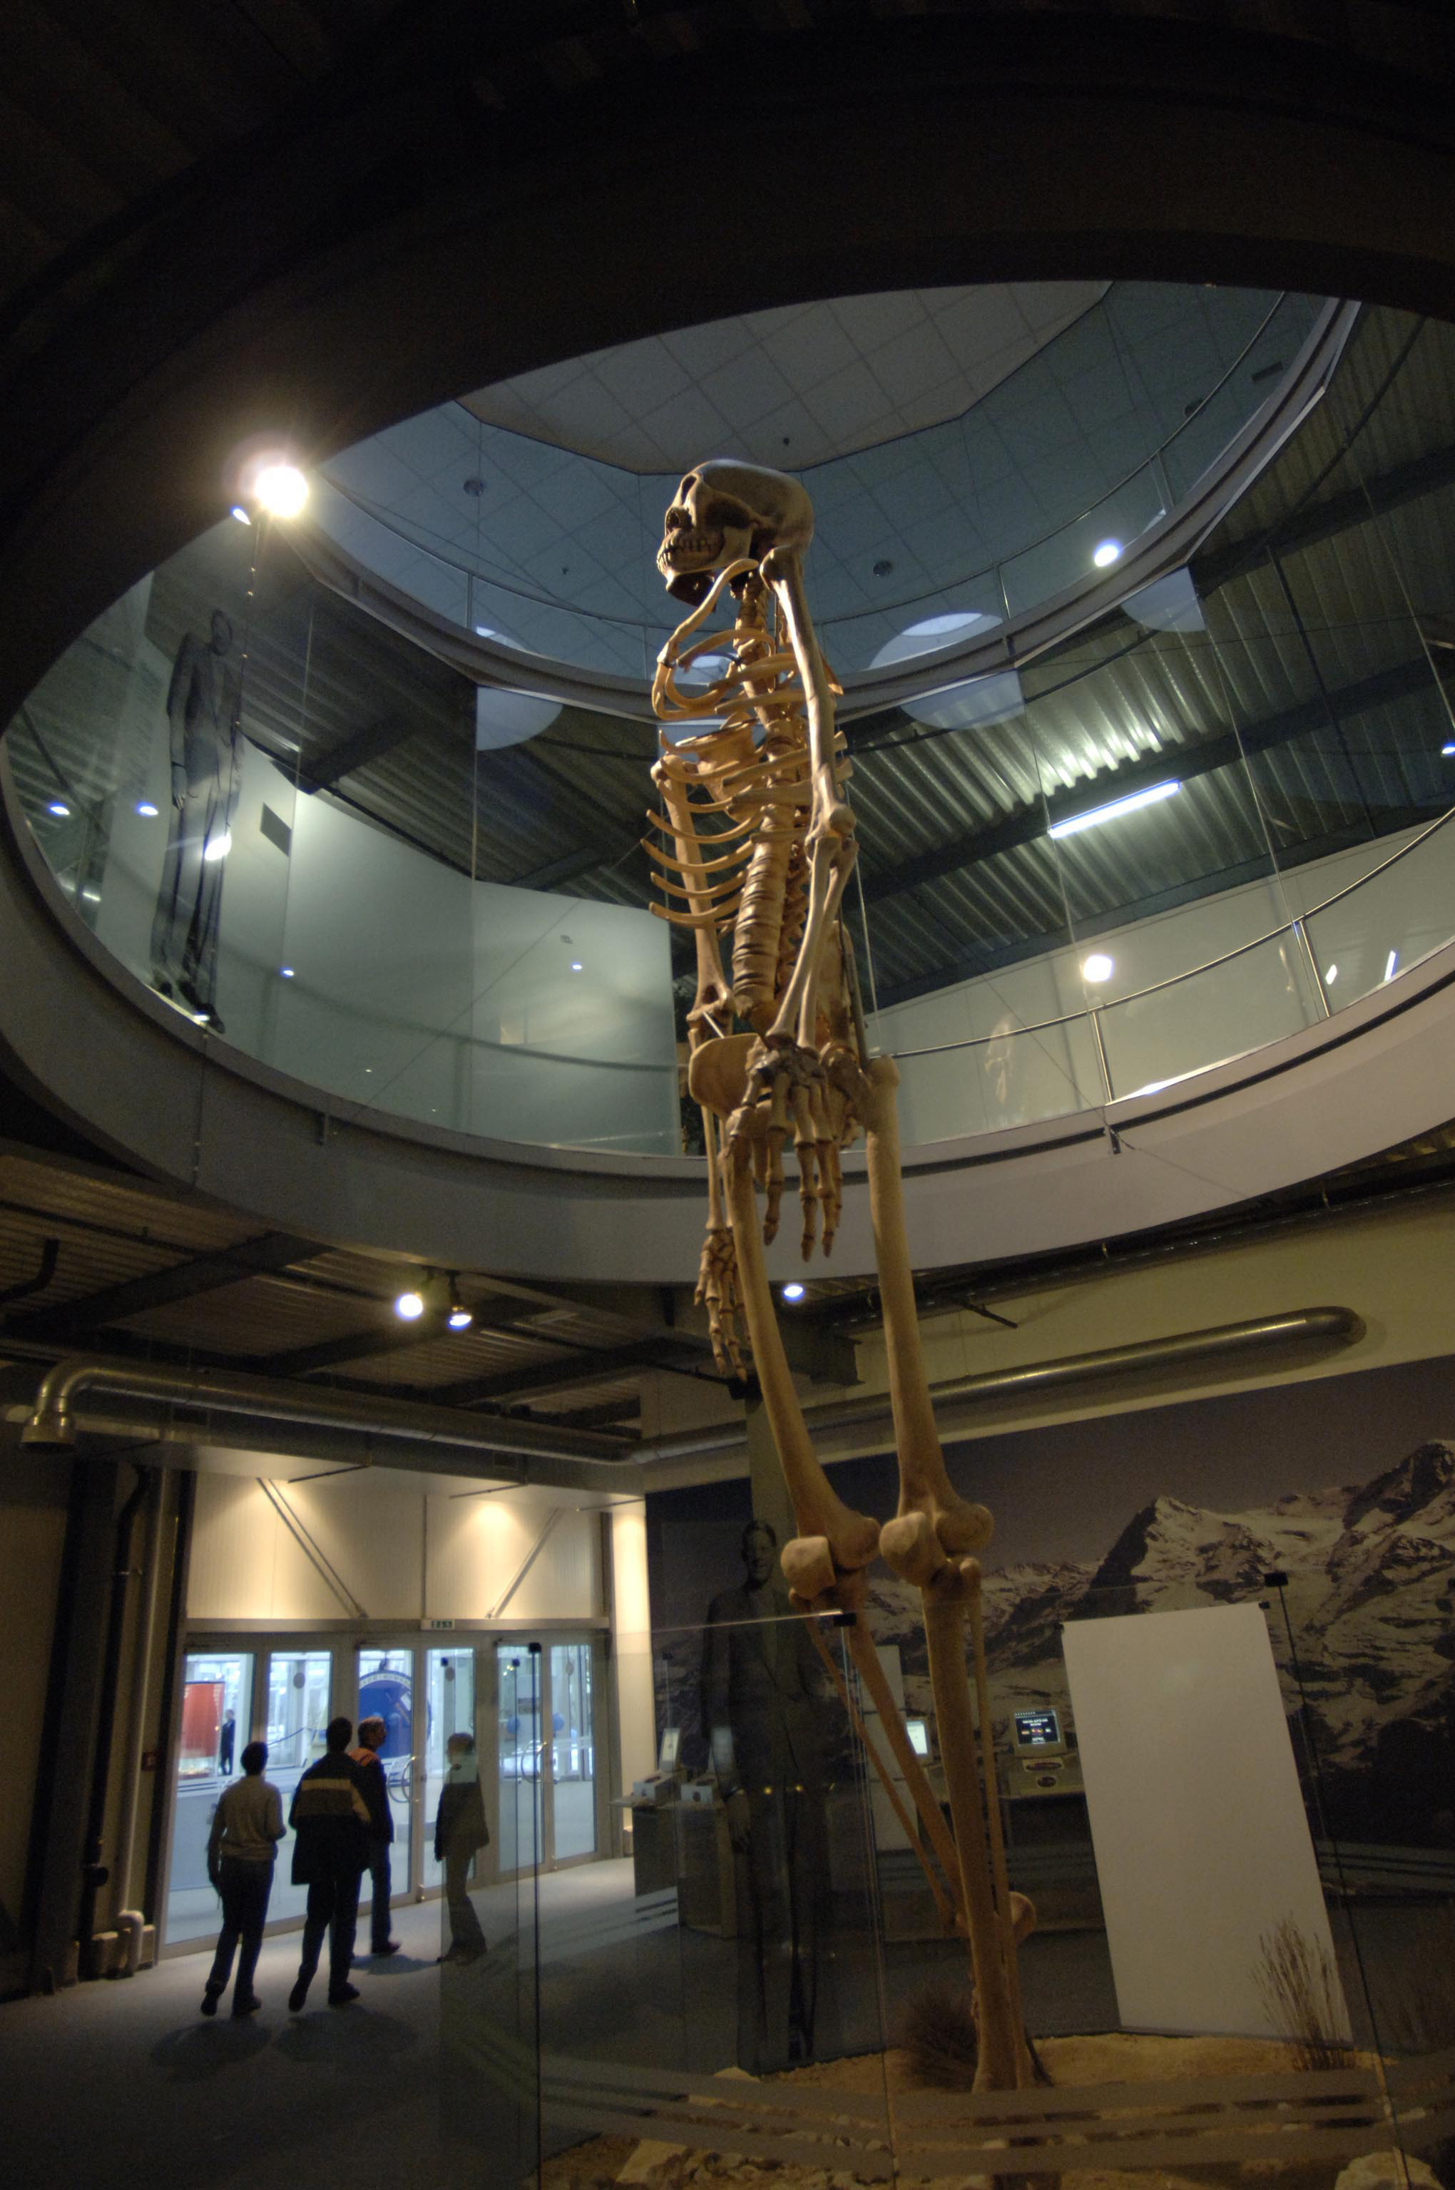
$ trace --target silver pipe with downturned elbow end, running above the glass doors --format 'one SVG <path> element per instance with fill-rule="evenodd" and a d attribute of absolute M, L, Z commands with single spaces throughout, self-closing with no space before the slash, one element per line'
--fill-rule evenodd
<path fill-rule="evenodd" d="M 114 1393 L 204 1413 L 248 1415 L 261 1421 L 357 1430 L 366 1437 L 397 1437 L 482 1456 L 605 1463 L 607 1472 L 611 1463 L 633 1459 L 629 1445 L 594 1430 L 552 1430 L 546 1424 L 515 1421 L 508 1415 L 469 1417 L 451 1406 L 375 1399 L 326 1386 L 285 1384 L 278 1378 L 232 1375 L 226 1369 L 156 1369 L 107 1360 L 103 1353 L 72 1353 L 46 1371 L 20 1441 L 24 1445 L 75 1445 L 79 1434 L 75 1413 L 81 1393 Z"/>

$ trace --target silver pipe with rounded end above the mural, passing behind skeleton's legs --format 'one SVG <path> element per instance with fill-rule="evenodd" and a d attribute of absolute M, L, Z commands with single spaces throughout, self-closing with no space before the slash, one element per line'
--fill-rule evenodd
<path fill-rule="evenodd" d="M 1249 1318 L 1247 1323 L 1218 1323 L 1205 1332 L 1183 1332 L 1177 1338 L 1137 1338 L 1126 1347 L 1067 1353 L 1061 1360 L 1030 1362 L 1023 1369 L 986 1369 L 979 1375 L 931 1384 L 929 1397 L 936 1408 L 984 1399 L 1036 1399 L 1067 1384 L 1131 1375 L 1137 1369 L 1192 1369 L 1203 1362 L 1227 1360 L 1234 1353 L 1267 1351 L 1269 1347 L 1308 1345 L 1313 1340 L 1352 1345 L 1356 1338 L 1363 1338 L 1363 1321 L 1352 1307 L 1291 1307 L 1275 1316 Z M 866 1399 L 811 1406 L 804 1410 L 804 1421 L 815 1437 L 835 1430 L 881 1428 L 890 1424 L 890 1395 L 874 1393 Z M 638 1448 L 638 1459 L 701 1459 L 712 1452 L 734 1452 L 741 1443 L 743 1432 L 734 1424 L 725 1424 L 723 1428 L 695 1430 L 681 1437 L 657 1437 Z"/>

